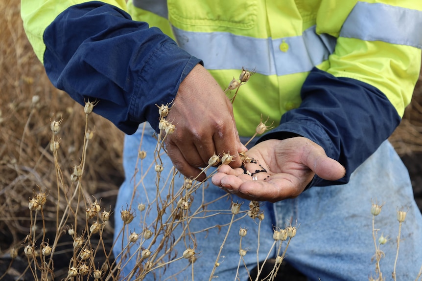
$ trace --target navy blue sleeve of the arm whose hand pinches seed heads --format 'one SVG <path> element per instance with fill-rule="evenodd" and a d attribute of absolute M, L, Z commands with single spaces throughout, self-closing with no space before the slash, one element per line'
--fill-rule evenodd
<path fill-rule="evenodd" d="M 115 6 L 71 6 L 44 33 L 44 66 L 52 84 L 127 134 L 141 122 L 158 130 L 158 108 L 171 102 L 190 70 L 202 62 L 158 28 L 133 21 Z"/>

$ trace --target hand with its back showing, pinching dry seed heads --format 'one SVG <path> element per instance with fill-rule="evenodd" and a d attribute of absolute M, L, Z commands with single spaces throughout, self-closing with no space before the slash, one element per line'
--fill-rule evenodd
<path fill-rule="evenodd" d="M 196 65 L 180 84 L 166 120 L 176 130 L 166 136 L 165 145 L 174 166 L 186 177 L 195 177 L 210 157 L 223 152 L 234 155 L 231 167 L 240 167 L 240 143 L 233 108 L 223 90 L 201 65 Z M 197 180 L 205 180 L 202 173 Z"/>

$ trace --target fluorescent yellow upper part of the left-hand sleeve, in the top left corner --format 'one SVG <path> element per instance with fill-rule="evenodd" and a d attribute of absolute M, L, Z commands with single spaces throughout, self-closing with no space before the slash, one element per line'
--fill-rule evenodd
<path fill-rule="evenodd" d="M 44 63 L 46 45 L 42 40 L 44 30 L 54 19 L 68 7 L 85 3 L 84 0 L 21 0 L 21 17 L 23 19 L 26 36 L 34 48 L 38 59 Z M 104 0 L 126 10 L 125 0 Z"/>

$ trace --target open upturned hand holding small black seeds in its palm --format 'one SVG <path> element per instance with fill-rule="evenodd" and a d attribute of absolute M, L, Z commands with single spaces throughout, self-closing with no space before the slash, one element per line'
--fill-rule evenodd
<path fill-rule="evenodd" d="M 326 180 L 346 173 L 321 146 L 304 137 L 266 140 L 246 154 L 255 159 L 244 165 L 248 172 L 221 165 L 212 183 L 245 199 L 276 202 L 300 195 L 315 173 Z"/>

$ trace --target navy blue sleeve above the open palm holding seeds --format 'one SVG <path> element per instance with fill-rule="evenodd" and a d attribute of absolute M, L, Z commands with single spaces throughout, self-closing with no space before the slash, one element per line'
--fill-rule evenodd
<path fill-rule="evenodd" d="M 349 182 L 352 172 L 401 121 L 388 98 L 374 86 L 317 68 L 305 80 L 301 97 L 301 106 L 283 114 L 280 126 L 258 141 L 304 136 L 346 168 L 344 178 L 333 182 L 315 176 L 308 187 Z"/>

